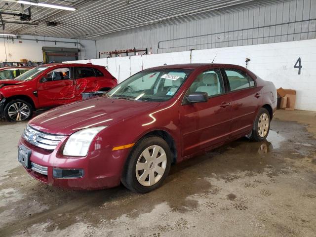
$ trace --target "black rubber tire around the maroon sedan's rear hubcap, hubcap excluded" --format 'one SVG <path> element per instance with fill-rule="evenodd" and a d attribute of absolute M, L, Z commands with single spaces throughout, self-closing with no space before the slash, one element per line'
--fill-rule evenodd
<path fill-rule="evenodd" d="M 266 133 L 262 133 L 261 129 L 259 131 L 259 120 L 262 119 L 262 115 L 267 116 L 267 118 L 269 119 L 269 127 L 267 128 Z M 265 117 L 266 118 L 266 117 Z M 257 141 L 257 142 L 261 142 L 264 141 L 268 134 L 269 134 L 269 130 L 270 130 L 270 122 L 271 122 L 271 118 L 270 118 L 270 114 L 269 111 L 265 108 L 261 108 L 257 114 L 256 119 L 253 122 L 252 125 L 252 130 L 251 132 L 247 135 L 247 138 L 252 140 L 252 141 Z M 260 133 L 260 134 L 259 134 Z"/>

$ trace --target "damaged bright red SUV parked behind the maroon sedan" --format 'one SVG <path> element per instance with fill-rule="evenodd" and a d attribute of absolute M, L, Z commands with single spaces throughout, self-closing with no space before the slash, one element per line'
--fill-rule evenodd
<path fill-rule="evenodd" d="M 15 79 L 0 80 L 0 117 L 23 121 L 33 111 L 81 100 L 82 92 L 107 91 L 117 85 L 102 66 L 46 64 Z"/>

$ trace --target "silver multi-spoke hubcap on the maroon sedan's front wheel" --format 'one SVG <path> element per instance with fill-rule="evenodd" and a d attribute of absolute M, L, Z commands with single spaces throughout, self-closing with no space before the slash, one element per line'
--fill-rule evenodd
<path fill-rule="evenodd" d="M 143 186 L 153 186 L 163 176 L 167 165 L 167 156 L 162 147 L 154 145 L 146 148 L 136 163 L 136 178 Z"/>

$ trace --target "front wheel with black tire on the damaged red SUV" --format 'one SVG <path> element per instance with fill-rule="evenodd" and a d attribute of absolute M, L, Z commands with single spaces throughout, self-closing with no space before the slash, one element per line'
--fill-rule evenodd
<path fill-rule="evenodd" d="M 14 105 L 16 105 L 17 107 L 14 107 Z M 18 108 L 18 110 L 15 116 L 12 113 L 16 110 L 16 108 Z M 21 121 L 29 120 L 30 118 L 32 118 L 33 110 L 34 108 L 29 102 L 25 100 L 17 99 L 17 100 L 9 101 L 4 106 L 3 112 L 4 112 L 4 117 L 6 118 L 6 120 L 10 122 L 21 122 Z"/>

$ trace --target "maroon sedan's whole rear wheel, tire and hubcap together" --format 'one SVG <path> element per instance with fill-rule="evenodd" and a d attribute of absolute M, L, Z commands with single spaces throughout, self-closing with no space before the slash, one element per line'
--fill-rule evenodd
<path fill-rule="evenodd" d="M 269 134 L 270 121 L 269 111 L 265 108 L 261 108 L 253 122 L 252 130 L 247 137 L 257 142 L 265 140 Z"/>

